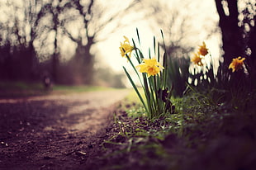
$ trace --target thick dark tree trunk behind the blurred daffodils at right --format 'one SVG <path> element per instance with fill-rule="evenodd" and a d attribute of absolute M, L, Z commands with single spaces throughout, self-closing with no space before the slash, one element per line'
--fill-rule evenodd
<path fill-rule="evenodd" d="M 244 3 L 244 10 L 239 12 L 237 0 L 216 0 L 216 9 L 220 17 L 222 48 L 225 52 L 223 55 L 225 66 L 228 66 L 233 58 L 239 56 L 247 56 L 247 63 L 255 65 L 255 2 Z M 239 15 L 242 17 L 241 21 L 239 21 Z"/>

